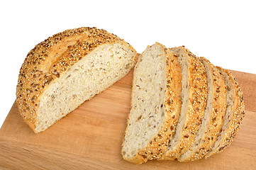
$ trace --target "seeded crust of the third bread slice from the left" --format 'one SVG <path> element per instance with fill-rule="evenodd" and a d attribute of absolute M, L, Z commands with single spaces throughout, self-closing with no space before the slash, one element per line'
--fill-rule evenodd
<path fill-rule="evenodd" d="M 209 122 L 207 123 L 206 130 L 204 132 L 204 136 L 201 138 L 201 142 L 198 149 L 194 152 L 191 152 L 187 157 L 180 157 L 179 162 L 189 162 L 195 161 L 197 159 L 201 159 L 204 155 L 209 151 L 213 143 L 216 141 L 218 137 L 218 132 L 221 129 L 223 118 L 226 112 L 226 84 L 221 76 L 218 69 L 211 64 L 206 58 L 200 57 L 202 62 L 206 62 L 211 67 L 212 77 L 213 79 L 213 103 L 211 109 L 211 117 Z M 209 103 L 208 103 L 209 104 Z M 189 150 L 188 150 L 189 152 Z"/>

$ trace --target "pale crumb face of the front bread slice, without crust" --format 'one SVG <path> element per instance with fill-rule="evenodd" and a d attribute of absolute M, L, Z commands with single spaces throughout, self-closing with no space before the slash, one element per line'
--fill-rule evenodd
<path fill-rule="evenodd" d="M 122 154 L 133 158 L 157 135 L 165 120 L 166 58 L 162 46 L 148 46 L 133 75 L 131 111 Z"/>

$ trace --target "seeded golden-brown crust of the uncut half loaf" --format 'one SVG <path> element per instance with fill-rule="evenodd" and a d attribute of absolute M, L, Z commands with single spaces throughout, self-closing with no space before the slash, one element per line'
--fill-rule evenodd
<path fill-rule="evenodd" d="M 97 28 L 76 28 L 57 33 L 35 45 L 23 62 L 16 86 L 16 103 L 25 122 L 34 132 L 40 95 L 52 81 L 82 60 L 96 47 L 120 42 L 136 51 L 118 36 Z M 136 60 L 136 59 L 135 59 Z"/>

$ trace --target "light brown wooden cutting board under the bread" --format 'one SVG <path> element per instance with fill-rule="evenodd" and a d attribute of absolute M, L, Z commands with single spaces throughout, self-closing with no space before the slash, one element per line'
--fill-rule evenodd
<path fill-rule="evenodd" d="M 232 73 L 244 92 L 245 118 L 230 147 L 213 157 L 141 165 L 123 160 L 132 70 L 39 134 L 23 123 L 14 103 L 0 130 L 0 169 L 256 169 L 256 74 Z"/>

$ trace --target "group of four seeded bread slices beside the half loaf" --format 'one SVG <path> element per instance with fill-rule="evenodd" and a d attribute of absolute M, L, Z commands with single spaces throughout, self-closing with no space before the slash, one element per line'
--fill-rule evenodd
<path fill-rule="evenodd" d="M 156 42 L 135 64 L 123 158 L 189 162 L 230 145 L 244 116 L 243 92 L 227 69 L 184 46 Z"/>

